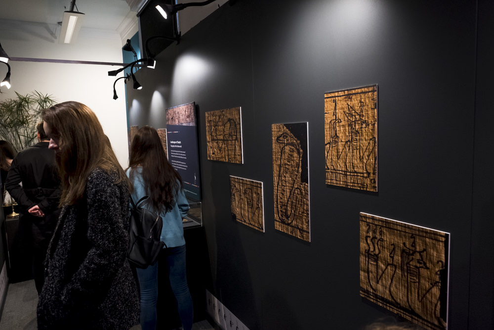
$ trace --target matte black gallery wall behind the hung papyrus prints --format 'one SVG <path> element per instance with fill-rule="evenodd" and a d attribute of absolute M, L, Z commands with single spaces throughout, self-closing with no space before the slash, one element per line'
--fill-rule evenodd
<path fill-rule="evenodd" d="M 250 330 L 391 315 L 359 295 L 366 212 L 450 233 L 449 329 L 493 329 L 493 4 L 230 2 L 138 71 L 142 90 L 127 85 L 130 125 L 198 106 L 205 288 Z M 378 192 L 328 186 L 324 93 L 372 84 Z M 207 160 L 205 112 L 237 106 L 244 164 Z M 296 122 L 309 126 L 310 243 L 274 229 L 271 125 Z M 263 182 L 265 233 L 232 220 L 230 175 Z"/>

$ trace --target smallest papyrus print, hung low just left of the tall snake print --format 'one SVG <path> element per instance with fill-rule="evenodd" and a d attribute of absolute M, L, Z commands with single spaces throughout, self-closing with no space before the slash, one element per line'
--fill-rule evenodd
<path fill-rule="evenodd" d="M 232 217 L 264 233 L 262 182 L 230 176 Z"/>

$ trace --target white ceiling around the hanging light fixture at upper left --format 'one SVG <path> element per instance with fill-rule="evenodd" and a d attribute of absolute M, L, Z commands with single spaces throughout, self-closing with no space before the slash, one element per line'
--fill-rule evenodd
<path fill-rule="evenodd" d="M 57 24 L 71 0 L 0 0 L 0 20 Z M 75 11 L 84 13 L 83 28 L 117 31 L 130 12 L 126 0 L 76 0 Z M 135 15 L 135 14 L 134 14 Z"/>

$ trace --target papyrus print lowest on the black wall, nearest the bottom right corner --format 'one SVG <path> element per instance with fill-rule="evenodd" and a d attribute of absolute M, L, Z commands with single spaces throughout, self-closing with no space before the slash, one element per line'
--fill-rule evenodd
<path fill-rule="evenodd" d="M 447 329 L 449 234 L 360 213 L 360 295 Z"/>

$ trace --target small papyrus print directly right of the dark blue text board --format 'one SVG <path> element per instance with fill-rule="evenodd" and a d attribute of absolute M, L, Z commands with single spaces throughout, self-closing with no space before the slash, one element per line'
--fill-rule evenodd
<path fill-rule="evenodd" d="M 243 164 L 240 107 L 206 112 L 207 159 Z"/>

